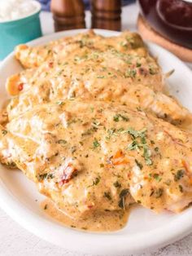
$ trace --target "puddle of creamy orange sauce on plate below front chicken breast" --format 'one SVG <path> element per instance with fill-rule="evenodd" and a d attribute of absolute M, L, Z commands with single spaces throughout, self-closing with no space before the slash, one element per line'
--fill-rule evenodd
<path fill-rule="evenodd" d="M 116 210 L 95 212 L 93 214 L 89 214 L 85 218 L 74 219 L 64 214 L 49 199 L 41 202 L 41 209 L 44 210 L 44 212 L 51 218 L 54 218 L 59 221 L 59 223 L 62 223 L 67 227 L 92 232 L 113 232 L 120 230 L 126 225 L 129 217 L 128 210 Z"/>

